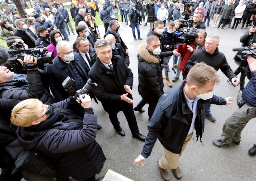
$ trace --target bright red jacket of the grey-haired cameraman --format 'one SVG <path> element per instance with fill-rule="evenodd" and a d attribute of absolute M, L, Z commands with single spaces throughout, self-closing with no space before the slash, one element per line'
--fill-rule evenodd
<path fill-rule="evenodd" d="M 187 43 L 184 43 L 183 45 L 178 45 L 177 47 L 177 51 L 181 54 L 181 61 L 180 61 L 180 67 L 179 69 L 182 71 L 182 73 L 185 72 L 186 69 L 186 63 L 188 62 L 188 59 L 191 57 L 191 55 L 198 51 L 196 49 L 193 50 L 193 52 L 190 52 L 187 48 Z M 190 47 L 194 48 L 194 42 L 189 44 Z M 202 48 L 204 47 L 204 45 L 202 46 Z"/>

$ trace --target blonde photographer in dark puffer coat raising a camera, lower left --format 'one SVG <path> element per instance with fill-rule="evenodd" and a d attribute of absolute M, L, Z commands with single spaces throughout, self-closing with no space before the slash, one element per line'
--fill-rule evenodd
<path fill-rule="evenodd" d="M 72 97 L 52 105 L 44 105 L 38 99 L 27 99 L 18 103 L 12 110 L 11 122 L 18 126 L 17 137 L 20 144 L 26 149 L 36 148 L 48 159 L 53 160 L 57 165 L 57 173 L 53 176 L 58 180 L 73 177 L 76 180 L 95 181 L 95 175 L 100 173 L 106 160 L 100 145 L 95 141 L 97 115 L 94 115 L 92 110 L 90 96 L 84 96 L 82 98 L 80 95 L 84 109 L 83 118 L 68 110 L 75 102 Z M 10 149 L 8 150 L 10 152 Z M 24 159 L 23 163 L 32 159 L 35 163 L 28 164 L 38 167 L 31 166 L 21 170 L 23 176 L 25 179 L 29 177 L 30 180 L 37 180 L 41 171 L 39 174 L 30 173 L 40 168 L 37 163 L 39 161 L 28 157 Z M 102 177 L 98 180 L 102 180 Z"/>

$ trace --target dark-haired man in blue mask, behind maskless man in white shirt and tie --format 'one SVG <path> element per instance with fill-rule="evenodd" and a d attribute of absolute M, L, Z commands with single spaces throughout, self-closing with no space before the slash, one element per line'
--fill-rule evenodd
<path fill-rule="evenodd" d="M 78 37 L 84 37 L 88 40 L 88 43 L 89 43 L 89 46 L 91 48 L 94 47 L 94 43 L 95 41 L 97 41 L 96 37 L 89 33 L 88 29 L 86 28 L 85 25 L 77 25 L 76 26 L 76 33 L 78 34 L 77 35 L 77 38 Z M 73 44 L 73 49 L 76 50 L 76 43 Z"/>

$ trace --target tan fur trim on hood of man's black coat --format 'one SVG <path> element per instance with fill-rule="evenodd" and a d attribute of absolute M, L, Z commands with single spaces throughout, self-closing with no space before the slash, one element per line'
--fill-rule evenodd
<path fill-rule="evenodd" d="M 141 56 L 141 58 L 148 63 L 159 63 L 160 60 L 156 56 L 150 54 L 146 47 L 146 43 L 141 43 L 138 47 L 138 54 Z"/>

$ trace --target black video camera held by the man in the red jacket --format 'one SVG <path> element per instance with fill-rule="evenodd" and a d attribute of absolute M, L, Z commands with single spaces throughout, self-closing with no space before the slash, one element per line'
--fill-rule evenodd
<path fill-rule="evenodd" d="M 190 44 L 195 41 L 197 37 L 196 33 L 197 28 L 181 28 L 180 31 L 183 31 L 183 35 L 180 38 L 177 38 L 177 44 L 183 45 L 184 43 Z"/>

